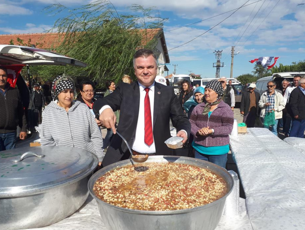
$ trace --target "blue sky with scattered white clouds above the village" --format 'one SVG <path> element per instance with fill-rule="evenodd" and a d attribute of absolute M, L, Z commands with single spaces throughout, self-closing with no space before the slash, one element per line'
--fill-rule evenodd
<path fill-rule="evenodd" d="M 125 11 L 131 4 L 156 7 L 161 17 L 169 18 L 164 32 L 171 63 L 178 65 L 176 73 L 201 74 L 201 77 L 215 77 L 215 50 L 223 50 L 221 76 L 230 76 L 231 46 L 235 46 L 233 77 L 251 73 L 254 64 L 251 59 L 273 56 L 280 57 L 277 62 L 289 65 L 305 59 L 305 0 L 113 0 L 119 11 Z M 0 0 L 0 34 L 38 33 L 53 27 L 56 17 L 47 15 L 43 8 L 61 3 L 75 8 L 89 3 L 85 0 Z M 257 2 L 257 3 L 256 3 Z M 252 4 L 251 4 L 252 3 Z M 206 32 L 236 8 L 231 17 L 206 34 L 186 43 Z M 231 12 L 228 12 L 231 11 Z M 228 12 L 228 13 L 225 13 Z M 205 20 L 191 26 L 182 27 L 219 14 L 223 15 Z M 60 15 L 63 16 L 63 15 Z M 179 28 L 182 27 L 182 28 Z M 179 28 L 179 29 L 177 29 Z M 173 30 L 176 29 L 176 30 Z M 243 35 L 242 35 L 243 34 Z M 176 48 L 176 49 L 173 49 Z M 171 50 L 172 49 L 172 50 Z"/>

